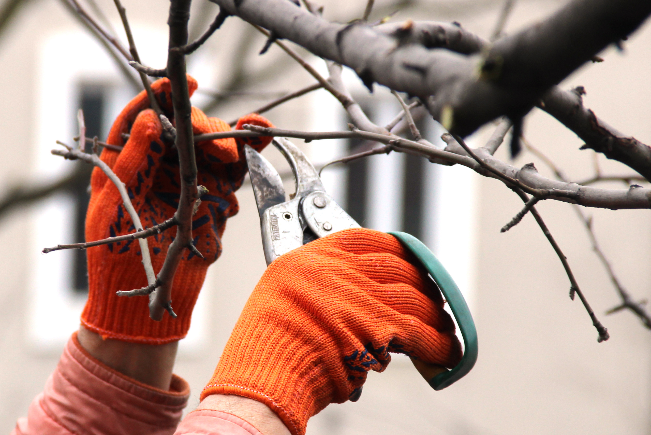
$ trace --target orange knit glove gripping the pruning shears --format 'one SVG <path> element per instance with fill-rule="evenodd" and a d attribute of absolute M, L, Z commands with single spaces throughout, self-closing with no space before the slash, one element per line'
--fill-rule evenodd
<path fill-rule="evenodd" d="M 269 406 L 293 435 L 329 403 L 357 400 L 389 352 L 454 367 L 462 356 L 443 298 L 396 238 L 349 229 L 267 268 L 201 398 Z M 430 299 L 431 298 L 431 299 Z"/>

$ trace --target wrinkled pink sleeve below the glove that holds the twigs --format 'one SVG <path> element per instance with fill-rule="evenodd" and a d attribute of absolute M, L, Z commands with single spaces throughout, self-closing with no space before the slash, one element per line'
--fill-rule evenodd
<path fill-rule="evenodd" d="M 74 333 L 12 435 L 171 435 L 188 398 L 182 378 L 170 391 L 141 384 L 92 358 Z"/>

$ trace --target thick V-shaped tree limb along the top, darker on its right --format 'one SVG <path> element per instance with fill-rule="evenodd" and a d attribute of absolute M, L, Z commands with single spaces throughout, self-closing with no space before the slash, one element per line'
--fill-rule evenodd
<path fill-rule="evenodd" d="M 214 3 L 350 66 L 368 87 L 378 82 L 419 96 L 435 119 L 462 136 L 500 115 L 524 115 L 549 87 L 628 36 L 651 13 L 644 0 L 574 0 L 542 23 L 497 40 L 488 54 L 464 56 L 400 45 L 363 23 L 328 23 L 286 0 Z"/>

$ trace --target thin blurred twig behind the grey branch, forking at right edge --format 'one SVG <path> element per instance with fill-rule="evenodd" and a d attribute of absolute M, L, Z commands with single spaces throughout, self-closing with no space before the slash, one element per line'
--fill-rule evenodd
<path fill-rule="evenodd" d="M 527 141 L 526 139 L 523 138 L 523 143 L 525 145 L 525 148 L 538 156 L 540 160 L 544 161 L 546 165 L 553 171 L 553 173 L 559 178 L 559 180 L 566 181 L 567 178 L 566 176 L 562 173 L 562 171 L 557 167 L 553 161 L 551 161 L 545 154 L 543 154 L 538 148 L 534 147 Z M 643 322 L 644 326 L 646 328 L 651 329 L 651 316 L 646 313 L 646 310 L 644 310 L 643 305 L 646 303 L 646 301 L 643 302 L 633 302 L 633 299 L 631 298 L 630 294 L 628 294 L 628 291 L 622 286 L 620 283 L 619 279 L 617 278 L 617 275 L 615 274 L 615 270 L 613 270 L 613 266 L 609 262 L 609 260 L 606 258 L 605 254 L 603 253 L 601 247 L 599 246 L 599 243 L 597 242 L 596 235 L 594 234 L 594 228 L 592 225 L 592 218 L 585 216 L 583 213 L 583 210 L 576 204 L 572 204 L 574 208 L 574 212 L 576 213 L 577 217 L 579 220 L 581 220 L 581 223 L 583 223 L 583 227 L 585 227 L 585 231 L 588 233 L 588 237 L 590 238 L 590 243 L 592 244 L 592 250 L 594 253 L 597 255 L 598 259 L 602 262 L 603 268 L 605 268 L 606 273 L 608 274 L 611 283 L 613 283 L 613 287 L 615 287 L 616 292 L 619 294 L 620 298 L 622 299 L 622 303 L 620 305 L 617 305 L 616 307 L 609 309 L 606 311 L 606 314 L 612 314 L 616 313 L 616 311 L 620 311 L 622 309 L 630 309 L 633 314 L 639 317 L 639 319 Z"/>

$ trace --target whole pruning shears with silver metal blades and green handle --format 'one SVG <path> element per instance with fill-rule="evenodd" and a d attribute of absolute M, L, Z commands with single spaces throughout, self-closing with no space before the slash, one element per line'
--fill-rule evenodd
<path fill-rule="evenodd" d="M 269 265 L 284 253 L 312 240 L 349 228 L 359 228 L 327 193 L 316 169 L 294 144 L 284 137 L 273 140 L 294 173 L 296 193 L 286 201 L 281 176 L 271 163 L 245 145 L 253 193 L 260 214 L 264 258 Z M 436 390 L 464 377 L 477 361 L 477 330 L 464 296 L 441 262 L 420 240 L 406 232 L 389 232 L 406 246 L 430 273 L 449 303 L 464 338 L 464 356 L 451 370 L 412 359 L 416 369 Z"/>

